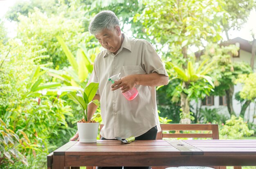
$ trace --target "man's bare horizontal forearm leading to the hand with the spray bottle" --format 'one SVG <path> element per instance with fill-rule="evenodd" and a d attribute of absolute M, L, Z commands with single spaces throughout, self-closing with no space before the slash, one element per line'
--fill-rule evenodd
<path fill-rule="evenodd" d="M 161 86 L 168 84 L 168 77 L 158 73 L 150 73 L 146 75 L 135 76 L 135 83 L 143 86 Z"/>

